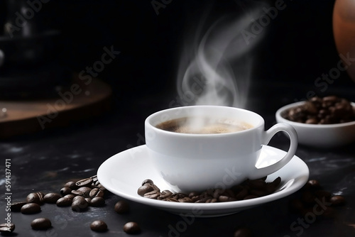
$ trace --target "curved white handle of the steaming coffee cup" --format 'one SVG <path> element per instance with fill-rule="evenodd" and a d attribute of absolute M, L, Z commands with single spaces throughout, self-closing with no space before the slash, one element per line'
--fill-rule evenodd
<path fill-rule="evenodd" d="M 264 131 L 262 143 L 267 145 L 271 138 L 273 138 L 273 136 L 280 131 L 288 133 L 288 136 L 290 137 L 290 148 L 288 148 L 288 153 L 286 153 L 281 160 L 278 160 L 278 162 L 275 162 L 273 165 L 268 165 L 262 168 L 255 167 L 255 170 L 252 172 L 251 176 L 249 176 L 249 179 L 255 180 L 261 177 L 266 177 L 267 175 L 280 170 L 280 168 L 286 165 L 295 155 L 298 145 L 297 132 L 295 131 L 295 128 L 290 126 L 288 123 L 276 123 L 274 126 L 269 128 L 268 131 Z"/>

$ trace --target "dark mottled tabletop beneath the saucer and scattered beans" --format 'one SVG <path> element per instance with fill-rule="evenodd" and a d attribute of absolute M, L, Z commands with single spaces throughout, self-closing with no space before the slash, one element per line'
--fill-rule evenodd
<path fill-rule="evenodd" d="M 293 102 L 292 89 L 284 91 L 272 97 L 266 95 L 268 103 L 261 94 L 249 100 L 247 109 L 257 111 L 266 119 L 266 129 L 275 123 L 275 110 Z M 11 162 L 11 202 L 22 201 L 31 192 L 59 192 L 67 181 L 95 175 L 99 165 L 111 155 L 142 145 L 144 119 L 159 109 L 168 108 L 171 98 L 174 97 L 147 97 L 131 106 L 114 106 L 108 114 L 72 123 L 69 127 L 2 140 L 0 222 L 6 222 L 8 213 L 6 159 Z M 288 139 L 275 136 L 269 145 L 287 150 Z M 327 218 L 317 216 L 317 220 L 312 220 L 291 212 L 288 203 L 298 197 L 300 191 L 236 214 L 195 218 L 187 224 L 182 223 L 181 216 L 131 201 L 128 201 L 131 208 L 128 214 L 117 214 L 114 204 L 122 198 L 108 194 L 105 206 L 89 207 L 80 213 L 55 204 L 43 204 L 38 214 L 11 211 L 16 229 L 10 236 L 129 236 L 123 231 L 128 221 L 136 221 L 141 227 L 138 236 L 234 236 L 236 228 L 241 226 L 250 228 L 253 236 L 355 236 L 354 154 L 354 144 L 332 150 L 302 145 L 297 148 L 296 155 L 310 169 L 310 179 L 319 180 L 323 189 L 346 198 L 346 205 L 334 207 L 335 214 Z M 38 217 L 48 217 L 53 228 L 34 231 L 31 221 Z M 109 231 L 91 231 L 89 224 L 97 219 L 106 221 Z M 172 228 L 180 231 L 171 231 Z"/>

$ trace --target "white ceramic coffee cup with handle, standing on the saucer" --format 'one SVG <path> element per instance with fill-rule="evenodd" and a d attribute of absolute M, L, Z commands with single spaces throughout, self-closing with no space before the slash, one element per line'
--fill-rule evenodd
<path fill-rule="evenodd" d="M 158 124 L 176 118 L 203 116 L 248 123 L 251 128 L 230 133 L 195 134 L 165 131 Z M 145 121 L 148 155 L 161 177 L 175 192 L 229 188 L 246 179 L 266 177 L 280 170 L 295 155 L 297 133 L 287 123 L 264 130 L 264 119 L 229 106 L 182 106 L 165 109 Z M 279 131 L 290 136 L 288 153 L 266 167 L 256 167 L 262 145 Z"/>

